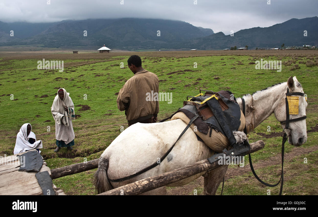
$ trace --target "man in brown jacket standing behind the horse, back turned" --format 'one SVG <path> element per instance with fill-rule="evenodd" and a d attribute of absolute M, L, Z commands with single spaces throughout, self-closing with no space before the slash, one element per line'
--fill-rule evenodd
<path fill-rule="evenodd" d="M 134 76 L 126 81 L 124 87 L 119 91 L 117 97 L 118 108 L 121 111 L 125 110 L 128 127 L 137 122 L 156 122 L 159 101 L 149 101 L 146 96 L 147 93 L 158 93 L 158 76 L 143 69 L 141 59 L 137 55 L 129 57 L 127 62 Z"/>

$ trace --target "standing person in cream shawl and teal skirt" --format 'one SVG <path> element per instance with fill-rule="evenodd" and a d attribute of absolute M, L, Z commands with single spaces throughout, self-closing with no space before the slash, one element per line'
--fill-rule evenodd
<path fill-rule="evenodd" d="M 55 96 L 51 112 L 55 120 L 55 138 L 58 152 L 61 147 L 67 147 L 68 150 L 73 149 L 74 145 L 74 130 L 72 118 L 75 117 L 74 104 L 64 88 L 58 90 Z"/>

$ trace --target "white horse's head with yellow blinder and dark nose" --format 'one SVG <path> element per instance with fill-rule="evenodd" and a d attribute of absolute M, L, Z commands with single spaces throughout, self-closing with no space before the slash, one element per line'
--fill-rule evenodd
<path fill-rule="evenodd" d="M 287 87 L 289 88 L 290 93 L 304 93 L 301 84 L 297 81 L 296 76 L 288 78 Z M 286 93 L 286 92 L 285 92 Z M 278 106 L 274 109 L 275 117 L 278 121 L 286 120 L 286 94 L 282 95 L 282 98 L 279 100 Z M 288 97 L 289 105 L 289 122 L 288 129 L 285 129 L 285 133 L 288 136 L 288 143 L 294 146 L 300 146 L 307 141 L 307 128 L 306 128 L 306 119 L 299 121 L 292 121 L 295 118 L 301 118 L 306 116 L 307 101 L 305 96 L 301 95 L 291 95 Z M 298 103 L 298 109 L 297 109 Z M 282 128 L 284 129 L 286 124 L 282 123 Z"/>

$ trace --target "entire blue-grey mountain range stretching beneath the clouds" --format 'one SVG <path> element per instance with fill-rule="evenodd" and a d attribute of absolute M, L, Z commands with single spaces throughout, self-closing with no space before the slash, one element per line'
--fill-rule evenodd
<path fill-rule="evenodd" d="M 270 27 L 254 27 L 225 35 L 189 23 L 163 19 L 86 19 L 54 23 L 0 21 L 0 46 L 95 49 L 219 50 L 230 47 L 272 48 L 318 44 L 318 17 L 290 19 Z M 11 31 L 11 32 L 10 32 Z M 13 31 L 13 32 L 12 32 Z M 307 36 L 305 35 L 305 32 Z M 10 36 L 10 34 L 13 36 Z M 85 36 L 86 34 L 86 36 Z"/>

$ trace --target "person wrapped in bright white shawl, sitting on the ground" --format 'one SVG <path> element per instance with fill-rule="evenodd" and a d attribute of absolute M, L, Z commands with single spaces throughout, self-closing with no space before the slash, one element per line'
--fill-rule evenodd
<path fill-rule="evenodd" d="M 32 127 L 30 123 L 25 123 L 22 125 L 20 131 L 17 134 L 17 140 L 13 154 L 22 153 L 32 149 L 38 150 L 43 148 L 42 140 L 37 141 L 35 134 L 31 131 L 31 129 Z M 41 153 L 40 150 L 38 150 L 38 152 Z"/>

